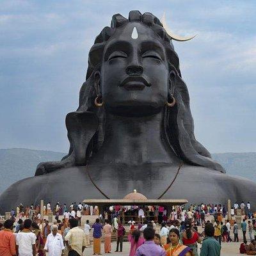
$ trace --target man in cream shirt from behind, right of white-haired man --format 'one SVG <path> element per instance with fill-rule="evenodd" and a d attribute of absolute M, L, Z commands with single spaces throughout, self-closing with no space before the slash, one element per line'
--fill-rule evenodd
<path fill-rule="evenodd" d="M 70 230 L 65 236 L 68 248 L 68 256 L 82 256 L 85 246 L 85 234 L 78 226 L 78 221 L 74 218 L 69 220 Z"/>

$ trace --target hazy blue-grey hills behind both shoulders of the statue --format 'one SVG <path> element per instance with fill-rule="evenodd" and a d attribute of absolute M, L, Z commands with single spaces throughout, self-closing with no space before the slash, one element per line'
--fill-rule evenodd
<path fill-rule="evenodd" d="M 58 161 L 65 153 L 30 150 L 26 148 L 0 149 L 0 193 L 13 182 L 35 175 L 40 162 Z M 230 175 L 239 175 L 256 182 L 256 153 L 220 153 L 212 158 L 222 164 Z"/>

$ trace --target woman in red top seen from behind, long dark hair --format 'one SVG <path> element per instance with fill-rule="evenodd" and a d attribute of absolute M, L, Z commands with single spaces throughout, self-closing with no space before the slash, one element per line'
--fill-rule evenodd
<path fill-rule="evenodd" d="M 193 249 L 195 256 L 198 256 L 197 243 L 202 243 L 196 230 L 193 230 L 191 221 L 185 221 L 185 230 L 182 232 L 182 242 L 184 245 L 189 246 Z"/>

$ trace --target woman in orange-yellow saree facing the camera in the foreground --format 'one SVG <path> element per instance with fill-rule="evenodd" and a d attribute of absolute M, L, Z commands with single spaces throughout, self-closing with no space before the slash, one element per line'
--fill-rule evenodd
<path fill-rule="evenodd" d="M 179 230 L 172 228 L 169 234 L 170 243 L 164 245 L 166 256 L 195 256 L 190 247 L 180 244 L 179 238 Z"/>

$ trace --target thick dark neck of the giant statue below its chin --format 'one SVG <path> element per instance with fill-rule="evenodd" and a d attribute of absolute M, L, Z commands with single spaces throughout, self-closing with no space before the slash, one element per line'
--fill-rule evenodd
<path fill-rule="evenodd" d="M 164 113 L 147 117 L 106 114 L 104 143 L 93 162 L 128 165 L 179 163 L 166 143 L 163 116 Z"/>

